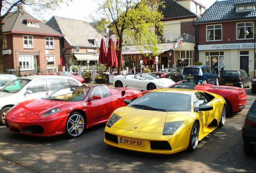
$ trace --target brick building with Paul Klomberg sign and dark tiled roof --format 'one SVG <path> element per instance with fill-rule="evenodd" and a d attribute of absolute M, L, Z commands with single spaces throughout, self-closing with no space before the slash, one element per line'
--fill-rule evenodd
<path fill-rule="evenodd" d="M 255 70 L 256 0 L 215 2 L 194 22 L 198 57 L 203 64 Z"/>

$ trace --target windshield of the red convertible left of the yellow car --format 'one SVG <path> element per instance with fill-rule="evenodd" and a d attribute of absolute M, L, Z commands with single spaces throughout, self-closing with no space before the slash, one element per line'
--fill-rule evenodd
<path fill-rule="evenodd" d="M 45 100 L 54 101 L 83 101 L 88 95 L 89 87 L 82 86 L 62 86 L 54 90 Z"/>

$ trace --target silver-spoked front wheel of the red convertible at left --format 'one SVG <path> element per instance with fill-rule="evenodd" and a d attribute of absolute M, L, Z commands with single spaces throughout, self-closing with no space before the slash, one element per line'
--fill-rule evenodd
<path fill-rule="evenodd" d="M 85 130 L 85 117 L 78 112 L 73 112 L 68 116 L 65 126 L 65 135 L 68 138 L 77 138 Z"/>

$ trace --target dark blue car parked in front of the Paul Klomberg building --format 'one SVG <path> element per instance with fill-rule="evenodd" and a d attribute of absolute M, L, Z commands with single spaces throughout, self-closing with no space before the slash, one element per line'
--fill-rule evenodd
<path fill-rule="evenodd" d="M 204 82 L 209 84 L 219 84 L 219 76 L 210 66 L 186 66 L 183 70 L 182 80 L 188 82 Z"/>

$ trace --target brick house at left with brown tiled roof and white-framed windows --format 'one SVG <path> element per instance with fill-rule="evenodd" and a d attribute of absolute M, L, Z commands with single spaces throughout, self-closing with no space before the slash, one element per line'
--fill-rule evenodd
<path fill-rule="evenodd" d="M 26 12 L 9 13 L 3 22 L 4 72 L 12 70 L 17 76 L 23 76 L 60 68 L 59 38 L 63 34 Z"/>

